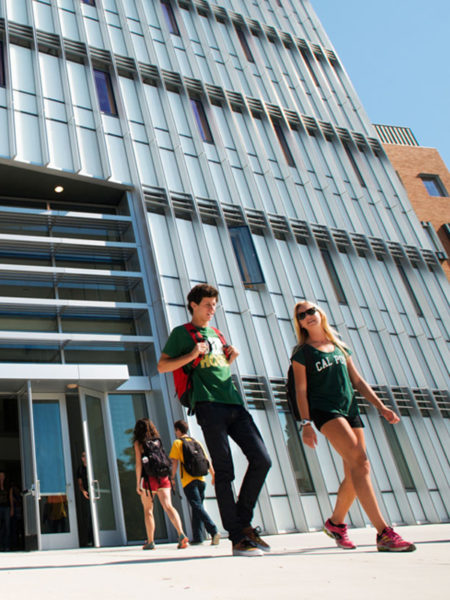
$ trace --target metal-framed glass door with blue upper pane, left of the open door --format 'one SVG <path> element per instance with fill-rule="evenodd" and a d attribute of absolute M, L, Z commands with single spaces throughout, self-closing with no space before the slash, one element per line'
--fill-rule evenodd
<path fill-rule="evenodd" d="M 64 395 L 33 394 L 32 414 L 39 548 L 75 548 L 78 531 Z"/>

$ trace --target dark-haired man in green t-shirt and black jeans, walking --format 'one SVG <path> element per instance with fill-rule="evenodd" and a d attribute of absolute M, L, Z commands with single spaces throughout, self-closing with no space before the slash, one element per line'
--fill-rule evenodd
<path fill-rule="evenodd" d="M 271 460 L 250 413 L 231 378 L 230 364 L 239 352 L 224 345 L 209 323 L 216 311 L 219 292 L 211 285 L 199 284 L 187 297 L 191 324 L 202 341 L 194 341 L 184 325 L 171 332 L 158 362 L 160 373 L 185 367 L 201 357 L 193 372 L 191 408 L 202 428 L 215 471 L 216 497 L 220 516 L 233 544 L 234 556 L 261 556 L 270 546 L 251 525 L 259 492 L 264 484 Z M 237 500 L 232 482 L 234 465 L 229 437 L 248 460 Z"/>

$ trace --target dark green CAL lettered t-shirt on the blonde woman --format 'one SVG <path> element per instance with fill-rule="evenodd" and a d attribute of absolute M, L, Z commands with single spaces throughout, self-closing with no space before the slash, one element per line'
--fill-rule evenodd
<path fill-rule="evenodd" d="M 348 354 L 352 352 L 347 349 Z M 322 352 L 308 344 L 308 361 L 303 347 L 292 360 L 306 365 L 307 395 L 310 410 L 318 409 L 353 417 L 359 414 L 347 370 L 347 358 L 340 348 Z"/>

